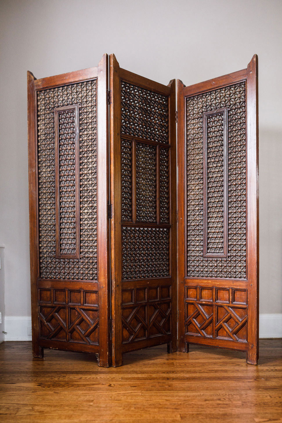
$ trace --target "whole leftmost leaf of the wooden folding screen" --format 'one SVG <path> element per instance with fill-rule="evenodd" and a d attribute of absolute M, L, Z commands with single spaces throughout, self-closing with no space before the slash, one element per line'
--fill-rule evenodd
<path fill-rule="evenodd" d="M 107 77 L 107 55 L 96 68 L 27 74 L 35 357 L 66 349 L 110 365 Z"/>

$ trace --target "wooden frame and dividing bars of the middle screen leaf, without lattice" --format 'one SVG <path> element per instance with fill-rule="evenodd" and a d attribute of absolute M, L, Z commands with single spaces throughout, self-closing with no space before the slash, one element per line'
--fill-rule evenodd
<path fill-rule="evenodd" d="M 126 81 L 148 90 L 169 96 L 170 113 L 170 145 L 146 140 L 144 138 L 122 135 L 124 139 L 132 140 L 132 222 L 122 222 L 121 219 L 121 109 L 120 109 L 120 81 Z M 176 139 L 175 139 L 175 81 L 171 81 L 168 86 L 159 84 L 140 77 L 132 72 L 121 69 L 115 58 L 110 55 L 110 195 L 112 204 L 111 219 L 111 269 L 112 269 L 112 365 L 122 365 L 122 354 L 147 346 L 168 343 L 168 350 L 176 350 Z M 157 176 L 156 192 L 156 223 L 137 222 L 136 216 L 136 143 L 145 143 L 156 146 L 156 173 L 159 175 L 159 148 L 170 149 L 170 224 L 160 224 L 159 222 L 159 179 Z M 174 168 L 174 170 L 172 170 Z M 170 231 L 170 277 L 144 278 L 122 280 L 122 240 L 121 227 L 139 228 L 171 228 Z M 136 343 L 122 342 L 122 318 L 121 303 L 122 289 L 145 287 L 172 286 L 172 332 L 170 335 L 160 335 L 151 339 L 143 339 Z M 158 288 L 159 289 L 159 288 Z"/>

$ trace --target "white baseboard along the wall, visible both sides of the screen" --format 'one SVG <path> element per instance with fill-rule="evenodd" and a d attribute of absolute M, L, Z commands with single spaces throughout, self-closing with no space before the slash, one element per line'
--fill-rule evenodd
<path fill-rule="evenodd" d="M 31 341 L 30 316 L 5 316 L 5 341 Z M 282 338 L 282 314 L 260 314 L 260 338 Z"/>

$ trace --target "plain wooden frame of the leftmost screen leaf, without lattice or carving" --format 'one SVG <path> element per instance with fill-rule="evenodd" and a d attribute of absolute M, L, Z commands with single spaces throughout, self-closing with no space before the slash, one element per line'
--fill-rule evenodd
<path fill-rule="evenodd" d="M 38 168 L 37 168 L 37 126 L 36 126 L 36 93 L 39 90 L 73 84 L 75 82 L 97 80 L 97 257 L 98 280 L 56 280 L 44 279 L 39 274 L 39 228 L 38 228 Z M 109 164 L 108 164 L 108 56 L 104 55 L 98 67 L 70 72 L 54 77 L 36 80 L 31 72 L 27 72 L 27 119 L 28 119 L 28 158 L 29 158 L 29 199 L 30 199 L 30 275 L 32 300 L 32 338 L 33 356 L 43 357 L 44 348 L 66 349 L 71 351 L 92 352 L 98 357 L 98 364 L 110 365 L 110 261 L 109 261 L 109 221 L 107 219 L 109 196 Z M 74 106 L 72 106 L 74 107 Z M 78 110 L 77 110 L 78 119 Z M 78 137 L 77 137 L 78 142 Z M 57 151 L 58 155 L 58 151 Z M 76 168 L 78 169 L 78 148 Z M 106 170 L 106 171 L 105 171 Z M 77 178 L 78 181 L 78 178 Z M 78 189 L 78 185 L 76 186 Z M 101 193 L 101 194 L 99 194 Z M 79 204 L 77 195 L 77 205 Z M 58 198 L 57 198 L 58 201 Z M 58 203 L 57 203 L 58 204 Z M 78 211 L 78 209 L 77 209 Z M 79 214 L 77 213 L 77 218 Z M 79 233 L 79 232 L 77 232 Z M 79 236 L 77 236 L 79 241 Z M 79 258 L 79 257 L 77 257 Z M 39 336 L 38 320 L 38 289 L 68 293 L 68 290 L 78 292 L 99 292 L 99 345 L 84 345 L 78 342 L 43 339 Z M 82 291 L 83 290 L 83 291 Z M 66 297 L 66 301 L 68 297 Z M 81 309 L 86 303 L 81 300 Z M 87 308 L 87 306 L 86 306 Z M 96 306 L 93 309 L 98 309 Z M 67 308 L 68 310 L 68 308 Z M 66 316 L 66 319 L 68 317 Z"/>

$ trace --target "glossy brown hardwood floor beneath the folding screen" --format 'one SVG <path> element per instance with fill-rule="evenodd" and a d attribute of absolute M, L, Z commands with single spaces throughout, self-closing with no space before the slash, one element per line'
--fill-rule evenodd
<path fill-rule="evenodd" d="M 119 368 L 90 354 L 0 345 L 0 422 L 282 422 L 282 340 L 261 340 L 258 366 L 245 354 L 159 346 L 125 354 Z"/>

